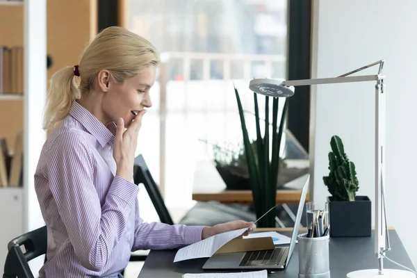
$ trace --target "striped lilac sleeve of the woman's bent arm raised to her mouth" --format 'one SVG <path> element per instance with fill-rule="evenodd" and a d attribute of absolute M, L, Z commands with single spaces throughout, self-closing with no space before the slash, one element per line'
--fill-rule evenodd
<path fill-rule="evenodd" d="M 100 271 L 122 237 L 138 186 L 114 177 L 101 206 L 92 147 L 85 139 L 66 133 L 48 152 L 49 186 L 75 254 L 83 267 Z"/>

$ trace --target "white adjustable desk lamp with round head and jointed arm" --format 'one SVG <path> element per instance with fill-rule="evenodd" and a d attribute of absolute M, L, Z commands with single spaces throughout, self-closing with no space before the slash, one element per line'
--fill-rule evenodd
<path fill-rule="evenodd" d="M 350 76 L 355 72 L 365 70 L 368 67 L 379 65 L 378 74 Z M 294 86 L 318 85 L 331 83 L 348 83 L 375 81 L 375 256 L 378 260 L 377 269 L 357 270 L 347 273 L 348 278 L 357 277 L 384 277 L 384 278 L 408 278 L 416 275 L 414 272 L 396 269 L 384 269 L 385 252 L 391 250 L 389 232 L 386 224 L 385 209 L 385 100 L 386 91 L 384 85 L 385 76 L 382 74 L 384 60 L 360 67 L 352 72 L 347 72 L 338 77 L 325 79 L 304 79 L 294 81 L 277 81 L 274 79 L 253 79 L 249 88 L 253 92 L 269 97 L 292 97 Z M 402 265 L 401 265 L 402 266 Z M 405 267 L 404 267 L 405 268 Z"/>

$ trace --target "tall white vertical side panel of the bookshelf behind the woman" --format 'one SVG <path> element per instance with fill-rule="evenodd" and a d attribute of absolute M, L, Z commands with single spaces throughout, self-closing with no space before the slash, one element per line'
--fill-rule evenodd
<path fill-rule="evenodd" d="M 44 225 L 34 179 L 36 165 L 47 133 L 42 113 L 47 97 L 47 1 L 24 1 L 24 232 Z M 33 273 L 42 267 L 44 256 L 29 262 Z M 35 275 L 36 276 L 36 275 Z"/>

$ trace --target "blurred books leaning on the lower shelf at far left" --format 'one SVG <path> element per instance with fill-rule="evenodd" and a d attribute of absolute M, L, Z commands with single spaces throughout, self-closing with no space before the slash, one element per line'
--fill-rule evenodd
<path fill-rule="evenodd" d="M 0 187 L 18 187 L 23 183 L 23 131 L 17 133 L 15 149 L 10 153 L 5 138 L 0 138 Z"/>

